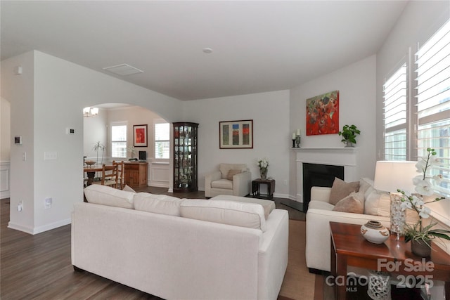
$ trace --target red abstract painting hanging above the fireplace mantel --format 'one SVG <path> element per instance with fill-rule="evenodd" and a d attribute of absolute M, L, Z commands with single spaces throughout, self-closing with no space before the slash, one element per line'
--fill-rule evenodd
<path fill-rule="evenodd" d="M 307 99 L 307 136 L 339 132 L 339 91 Z"/>

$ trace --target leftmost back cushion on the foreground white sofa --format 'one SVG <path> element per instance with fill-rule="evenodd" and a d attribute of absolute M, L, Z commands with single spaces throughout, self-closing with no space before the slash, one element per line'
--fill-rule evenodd
<path fill-rule="evenodd" d="M 84 195 L 89 203 L 134 209 L 133 192 L 117 190 L 107 185 L 91 184 L 84 188 Z"/>

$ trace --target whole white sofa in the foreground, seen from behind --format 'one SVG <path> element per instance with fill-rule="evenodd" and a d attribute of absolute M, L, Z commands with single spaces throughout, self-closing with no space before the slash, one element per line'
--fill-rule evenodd
<path fill-rule="evenodd" d="M 72 213 L 72 265 L 163 299 L 276 299 L 288 212 L 103 185 Z M 206 220 L 206 221 L 205 221 Z M 234 224 L 234 225 L 231 225 Z"/>

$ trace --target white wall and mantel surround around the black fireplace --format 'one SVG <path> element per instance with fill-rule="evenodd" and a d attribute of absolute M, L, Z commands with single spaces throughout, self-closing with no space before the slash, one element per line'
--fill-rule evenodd
<path fill-rule="evenodd" d="M 290 132 L 306 132 L 306 100 L 329 91 L 339 91 L 339 126 L 355 124 L 361 130 L 356 137 L 359 148 L 359 174 L 373 178 L 375 173 L 375 56 L 326 74 L 290 91 Z M 306 136 L 303 148 L 344 147 L 338 134 Z M 294 150 L 290 151 L 290 195 L 297 194 Z"/>

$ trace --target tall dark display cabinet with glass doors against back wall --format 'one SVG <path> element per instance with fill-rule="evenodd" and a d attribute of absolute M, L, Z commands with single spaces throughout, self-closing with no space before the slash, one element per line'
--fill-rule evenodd
<path fill-rule="evenodd" d="M 198 190 L 197 123 L 176 122 L 174 125 L 174 192 Z"/>

